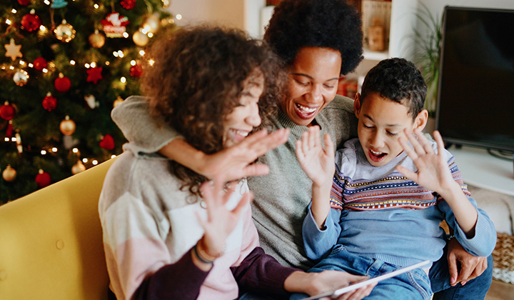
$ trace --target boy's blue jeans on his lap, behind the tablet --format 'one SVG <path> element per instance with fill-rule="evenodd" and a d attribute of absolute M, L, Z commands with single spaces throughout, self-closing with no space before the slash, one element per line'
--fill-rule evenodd
<path fill-rule="evenodd" d="M 308 272 L 336 270 L 373 278 L 400 268 L 400 266 L 388 264 L 379 259 L 351 254 L 346 251 L 344 246 L 336 245 L 333 247 L 331 254 L 322 259 L 316 266 L 313 266 L 312 269 L 309 269 Z M 432 289 L 430 288 L 428 275 L 422 269 L 414 269 L 413 271 L 378 282 L 366 299 L 426 300 L 430 299 L 431 295 Z M 290 299 L 296 300 L 306 297 L 308 297 L 307 294 L 293 294 Z"/>

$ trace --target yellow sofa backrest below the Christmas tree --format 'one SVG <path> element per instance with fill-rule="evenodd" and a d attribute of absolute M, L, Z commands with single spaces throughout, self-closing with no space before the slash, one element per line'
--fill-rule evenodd
<path fill-rule="evenodd" d="M 114 159 L 0 206 L 0 299 L 107 299 L 98 201 Z"/>

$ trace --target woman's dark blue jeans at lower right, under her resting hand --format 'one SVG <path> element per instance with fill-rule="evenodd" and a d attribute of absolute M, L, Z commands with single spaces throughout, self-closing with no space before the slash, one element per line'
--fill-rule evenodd
<path fill-rule="evenodd" d="M 482 275 L 468 281 L 464 286 L 457 284 L 450 286 L 450 273 L 448 271 L 448 260 L 446 254 L 448 246 L 444 249 L 443 256 L 435 261 L 430 268 L 430 283 L 435 293 L 434 300 L 482 300 L 487 294 L 491 281 L 493 280 L 493 256 L 488 257 L 488 269 Z M 460 268 L 459 268 L 460 271 Z"/>

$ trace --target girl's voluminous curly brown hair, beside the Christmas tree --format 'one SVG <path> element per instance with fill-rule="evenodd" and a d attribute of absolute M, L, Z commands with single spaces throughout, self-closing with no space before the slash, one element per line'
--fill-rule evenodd
<path fill-rule="evenodd" d="M 264 77 L 261 126 L 276 114 L 286 82 L 273 51 L 237 29 L 196 26 L 161 33 L 146 56 L 154 63 L 145 66 L 141 89 L 151 114 L 206 154 L 223 149 L 223 120 L 239 105 L 246 79 Z M 197 196 L 207 180 L 175 161 L 171 173 Z"/>

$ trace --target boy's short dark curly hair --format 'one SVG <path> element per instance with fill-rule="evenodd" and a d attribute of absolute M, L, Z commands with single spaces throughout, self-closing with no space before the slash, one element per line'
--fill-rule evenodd
<path fill-rule="evenodd" d="M 423 110 L 427 86 L 416 66 L 406 59 L 384 59 L 368 71 L 361 92 L 361 105 L 370 93 L 403 104 L 415 119 Z"/>

